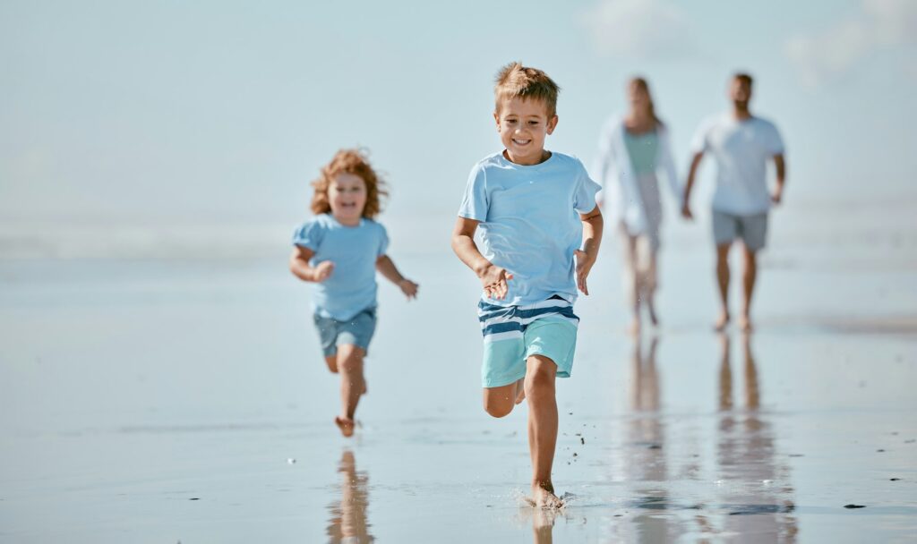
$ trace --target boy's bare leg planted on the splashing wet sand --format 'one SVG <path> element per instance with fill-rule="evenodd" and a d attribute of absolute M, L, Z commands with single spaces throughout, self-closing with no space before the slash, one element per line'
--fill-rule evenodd
<path fill-rule="evenodd" d="M 526 360 L 525 397 L 528 399 L 528 448 L 532 457 L 532 499 L 536 506 L 559 507 L 551 467 L 558 442 L 558 402 L 555 377 L 558 365 L 544 355 Z"/>

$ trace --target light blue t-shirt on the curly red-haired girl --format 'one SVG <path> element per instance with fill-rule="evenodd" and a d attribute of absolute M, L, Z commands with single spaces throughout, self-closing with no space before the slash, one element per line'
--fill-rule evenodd
<path fill-rule="evenodd" d="M 315 252 L 309 260 L 312 267 L 323 261 L 335 264 L 331 276 L 313 286 L 315 313 L 348 321 L 376 306 L 376 259 L 389 246 L 380 223 L 364 218 L 357 226 L 345 226 L 330 213 L 322 213 L 296 229 L 293 245 Z"/>

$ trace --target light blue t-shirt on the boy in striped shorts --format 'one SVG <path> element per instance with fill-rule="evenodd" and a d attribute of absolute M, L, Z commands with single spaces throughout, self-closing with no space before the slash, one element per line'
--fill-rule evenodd
<path fill-rule="evenodd" d="M 580 213 L 595 209 L 600 189 L 580 159 L 562 153 L 532 166 L 496 153 L 474 165 L 458 215 L 481 222 L 481 255 L 513 274 L 505 299 L 482 298 L 498 306 L 535 304 L 554 295 L 575 301 Z"/>

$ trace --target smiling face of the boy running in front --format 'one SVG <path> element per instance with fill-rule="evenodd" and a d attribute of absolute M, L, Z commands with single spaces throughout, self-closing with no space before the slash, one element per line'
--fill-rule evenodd
<path fill-rule="evenodd" d="M 506 158 L 515 164 L 533 165 L 546 159 L 545 138 L 554 132 L 558 116 L 547 116 L 547 106 L 540 100 L 506 98 L 500 111 L 493 113 L 500 140 L 506 147 Z"/>

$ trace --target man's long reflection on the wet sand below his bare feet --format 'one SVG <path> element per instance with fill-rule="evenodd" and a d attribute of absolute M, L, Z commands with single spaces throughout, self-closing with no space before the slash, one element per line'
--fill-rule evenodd
<path fill-rule="evenodd" d="M 716 461 L 722 487 L 722 532 L 741 535 L 744 541 L 794 542 L 798 529 L 792 515 L 790 469 L 778 462 L 775 432 L 759 410 L 761 390 L 751 336 L 743 334 L 741 342 L 744 387 L 743 406 L 738 408 L 734 399 L 736 379 L 730 360 L 731 341 L 729 336 L 720 335 Z"/>

